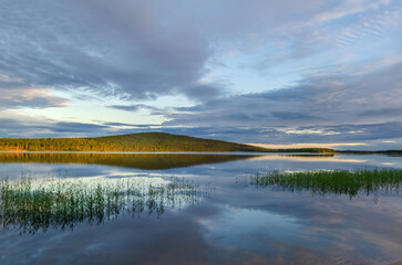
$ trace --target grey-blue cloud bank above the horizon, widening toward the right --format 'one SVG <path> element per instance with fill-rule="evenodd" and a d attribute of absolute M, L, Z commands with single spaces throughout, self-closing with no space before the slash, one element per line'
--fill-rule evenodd
<path fill-rule="evenodd" d="M 359 68 L 349 72 L 349 68 L 344 68 L 333 75 L 306 76 L 285 89 L 212 97 L 196 106 L 177 107 L 169 112 L 145 104 L 110 106 L 127 112 L 145 108 L 164 115 L 169 121 L 161 126 L 118 121 L 69 123 L 3 114 L 0 132 L 11 137 L 71 137 L 165 131 L 262 144 L 372 142 L 395 139 L 395 148 L 400 145 L 402 131 L 399 112 L 402 77 L 398 74 L 401 72 L 400 62 L 364 72 L 359 72 Z M 22 99 L 43 96 L 32 91 L 30 93 Z M 9 97 L 18 98 L 18 94 L 10 94 Z"/>

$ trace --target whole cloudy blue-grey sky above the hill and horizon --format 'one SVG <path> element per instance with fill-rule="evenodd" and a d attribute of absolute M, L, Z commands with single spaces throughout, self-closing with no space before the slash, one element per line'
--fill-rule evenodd
<path fill-rule="evenodd" d="M 0 137 L 402 149 L 402 1 L 0 0 Z"/>

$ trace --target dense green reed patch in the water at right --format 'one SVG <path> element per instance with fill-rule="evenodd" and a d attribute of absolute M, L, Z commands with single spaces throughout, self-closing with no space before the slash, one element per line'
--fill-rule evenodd
<path fill-rule="evenodd" d="M 402 170 L 318 170 L 300 172 L 270 172 L 254 176 L 250 184 L 271 187 L 287 191 L 310 191 L 312 194 L 347 194 L 350 199 L 358 194 L 373 194 L 378 200 L 380 190 L 399 192 L 402 188 Z"/>

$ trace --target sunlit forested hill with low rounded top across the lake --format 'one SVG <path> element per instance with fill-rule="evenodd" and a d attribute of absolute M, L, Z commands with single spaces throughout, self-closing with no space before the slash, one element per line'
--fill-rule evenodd
<path fill-rule="evenodd" d="M 96 138 L 2 138 L 0 151 L 267 151 L 248 145 L 163 132 L 142 132 Z"/>

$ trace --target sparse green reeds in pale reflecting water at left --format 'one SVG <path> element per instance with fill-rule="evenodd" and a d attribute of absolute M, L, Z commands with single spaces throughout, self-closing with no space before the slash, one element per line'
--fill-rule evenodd
<path fill-rule="evenodd" d="M 197 203 L 209 191 L 208 186 L 183 179 L 34 180 L 23 176 L 0 181 L 0 223 L 34 233 L 49 227 L 72 230 L 84 221 L 100 224 L 124 212 L 161 216 L 165 208 Z"/>

